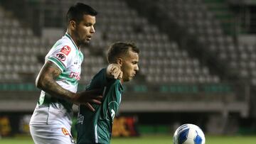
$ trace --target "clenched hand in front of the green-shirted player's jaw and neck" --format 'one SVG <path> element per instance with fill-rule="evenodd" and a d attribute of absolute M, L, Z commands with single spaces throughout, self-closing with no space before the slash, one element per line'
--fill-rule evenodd
<path fill-rule="evenodd" d="M 117 64 L 110 64 L 107 66 L 107 77 L 114 79 L 122 79 L 121 67 Z"/>

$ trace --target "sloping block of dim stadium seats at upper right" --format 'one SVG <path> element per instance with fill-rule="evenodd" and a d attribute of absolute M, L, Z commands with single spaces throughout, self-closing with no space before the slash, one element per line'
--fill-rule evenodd
<path fill-rule="evenodd" d="M 204 48 L 216 53 L 218 59 L 226 62 L 231 72 L 237 72 L 240 79 L 248 79 L 255 84 L 251 80 L 255 79 L 252 74 L 255 71 L 254 46 L 240 44 L 233 40 L 230 35 L 232 33 L 225 33 L 222 23 L 210 10 L 208 2 L 161 0 L 158 4 L 169 13 L 170 18 L 176 19 L 180 26 L 187 28 Z"/>

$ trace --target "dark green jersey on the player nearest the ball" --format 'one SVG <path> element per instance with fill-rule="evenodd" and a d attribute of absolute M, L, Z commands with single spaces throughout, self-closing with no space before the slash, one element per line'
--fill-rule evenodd
<path fill-rule="evenodd" d="M 102 104 L 92 104 L 94 112 L 79 106 L 78 144 L 110 143 L 112 123 L 121 102 L 123 87 L 119 79 L 107 79 L 106 69 L 102 69 L 86 89 L 99 88 L 102 89 Z"/>

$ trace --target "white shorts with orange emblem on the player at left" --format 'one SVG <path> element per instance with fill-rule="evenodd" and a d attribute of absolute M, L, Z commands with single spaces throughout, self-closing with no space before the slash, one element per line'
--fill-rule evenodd
<path fill-rule="evenodd" d="M 70 131 L 59 125 L 29 126 L 35 144 L 75 143 Z"/>

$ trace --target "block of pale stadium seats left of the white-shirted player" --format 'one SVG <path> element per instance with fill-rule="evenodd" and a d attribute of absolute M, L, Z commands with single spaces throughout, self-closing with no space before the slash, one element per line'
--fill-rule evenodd
<path fill-rule="evenodd" d="M 0 22 L 1 82 L 23 82 L 23 74 L 34 79 L 42 66 L 38 63 L 37 55 L 46 53 L 42 49 L 45 44 L 33 35 L 30 28 L 21 26 L 10 11 L 0 7 L 0 16 L 4 19 Z"/>

